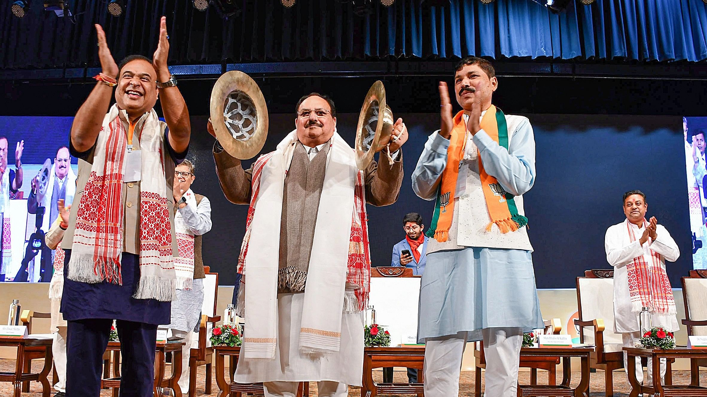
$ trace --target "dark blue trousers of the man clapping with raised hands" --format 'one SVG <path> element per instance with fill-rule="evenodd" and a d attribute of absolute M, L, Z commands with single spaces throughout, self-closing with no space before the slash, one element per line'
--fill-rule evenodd
<path fill-rule="evenodd" d="M 110 319 L 69 321 L 66 335 L 66 397 L 100 396 L 103 353 Z M 155 379 L 157 326 L 117 320 L 121 344 L 120 397 L 151 397 Z"/>

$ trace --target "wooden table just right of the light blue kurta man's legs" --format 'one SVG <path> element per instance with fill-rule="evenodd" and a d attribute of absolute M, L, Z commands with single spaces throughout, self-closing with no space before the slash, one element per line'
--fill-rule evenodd
<path fill-rule="evenodd" d="M 520 396 L 589 396 L 589 356 L 594 348 L 521 348 L 520 356 L 524 358 L 559 357 L 562 359 L 562 383 L 559 385 L 518 385 Z M 578 357 L 581 361 L 582 377 L 576 388 L 570 386 L 572 378 L 571 358 Z"/>

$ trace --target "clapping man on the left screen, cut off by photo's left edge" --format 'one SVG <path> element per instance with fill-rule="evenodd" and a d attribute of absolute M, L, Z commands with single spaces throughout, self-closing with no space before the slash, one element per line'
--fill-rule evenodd
<path fill-rule="evenodd" d="M 5 211 L 9 207 L 11 198 L 14 198 L 18 190 L 22 187 L 22 151 L 25 141 L 17 142 L 15 149 L 15 169 L 7 168 L 8 141 L 5 137 L 0 137 L 0 281 L 5 281 L 5 274 L 12 261 L 11 241 L 10 241 L 10 217 L 5 216 Z"/>

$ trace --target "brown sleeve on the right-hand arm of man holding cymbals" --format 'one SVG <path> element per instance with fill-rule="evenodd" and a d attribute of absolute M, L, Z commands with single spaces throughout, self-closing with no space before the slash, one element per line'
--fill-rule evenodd
<path fill-rule="evenodd" d="M 392 166 L 384 155 L 378 156 L 378 163 L 371 161 L 366 168 L 366 202 L 382 207 L 396 202 L 400 193 L 403 177 L 402 150 Z"/>

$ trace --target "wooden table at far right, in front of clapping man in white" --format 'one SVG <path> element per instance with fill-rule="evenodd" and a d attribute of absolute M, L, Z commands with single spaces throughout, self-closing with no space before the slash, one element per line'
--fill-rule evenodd
<path fill-rule="evenodd" d="M 629 372 L 629 383 L 631 384 L 631 394 L 629 396 L 636 397 L 643 393 L 643 396 L 654 394 L 660 396 L 707 396 L 707 387 L 694 384 L 688 385 L 673 385 L 661 384 L 660 381 L 660 359 L 667 360 L 675 358 L 689 358 L 692 362 L 696 359 L 707 358 L 707 349 L 642 349 L 642 348 L 624 348 L 629 356 L 629 367 L 626 372 Z M 635 357 L 645 357 L 653 359 L 653 386 L 643 386 L 636 379 L 636 360 Z M 692 374 L 694 376 L 694 374 Z M 699 376 L 699 374 L 698 374 Z M 672 382 L 670 382 L 672 383 Z"/>

